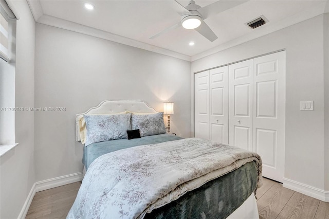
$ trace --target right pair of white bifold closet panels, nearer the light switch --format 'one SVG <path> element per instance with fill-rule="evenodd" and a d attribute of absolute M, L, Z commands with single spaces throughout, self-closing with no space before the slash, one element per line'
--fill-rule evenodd
<path fill-rule="evenodd" d="M 263 176 L 282 182 L 285 51 L 230 65 L 229 144 L 257 152 Z"/>

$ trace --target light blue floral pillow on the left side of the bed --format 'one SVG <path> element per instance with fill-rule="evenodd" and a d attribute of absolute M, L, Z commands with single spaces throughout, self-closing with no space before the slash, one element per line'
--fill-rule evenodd
<path fill-rule="evenodd" d="M 128 138 L 127 130 L 131 130 L 131 114 L 121 115 L 84 115 L 87 126 L 85 146 L 115 139 Z"/>

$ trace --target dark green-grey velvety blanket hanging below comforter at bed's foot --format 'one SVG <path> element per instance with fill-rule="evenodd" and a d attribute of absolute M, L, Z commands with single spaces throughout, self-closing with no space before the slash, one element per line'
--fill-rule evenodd
<path fill-rule="evenodd" d="M 213 179 L 179 199 L 153 210 L 144 218 L 226 218 L 256 189 L 257 173 L 255 162 L 246 163 L 239 169 Z"/>

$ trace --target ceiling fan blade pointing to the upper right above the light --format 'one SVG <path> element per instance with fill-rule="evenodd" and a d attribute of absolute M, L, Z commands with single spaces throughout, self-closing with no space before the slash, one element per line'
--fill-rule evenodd
<path fill-rule="evenodd" d="M 217 2 L 214 2 L 210 5 L 207 5 L 203 8 L 197 9 L 197 11 L 202 14 L 203 19 L 206 19 L 207 17 L 210 17 L 214 14 L 221 13 L 223 11 L 226 11 L 230 8 L 234 8 L 238 5 L 241 5 L 245 2 L 248 2 L 247 0 L 220 0 Z"/>

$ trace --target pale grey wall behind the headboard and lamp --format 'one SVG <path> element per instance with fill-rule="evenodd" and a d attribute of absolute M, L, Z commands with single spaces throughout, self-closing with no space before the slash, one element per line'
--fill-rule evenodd
<path fill-rule="evenodd" d="M 172 132 L 190 137 L 190 62 L 43 24 L 36 25 L 36 181 L 81 172 L 75 114 L 106 99 L 144 100 L 157 111 L 175 103 Z"/>

